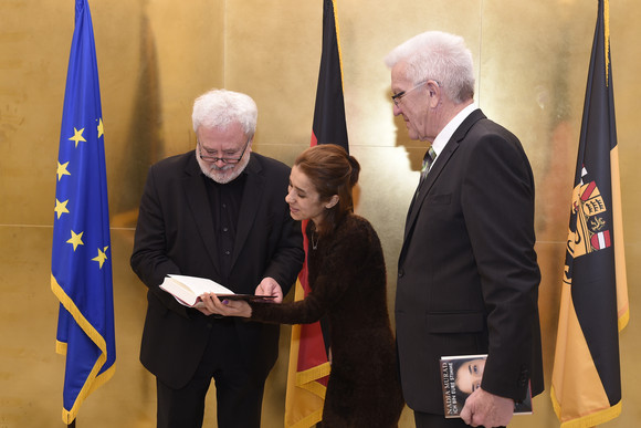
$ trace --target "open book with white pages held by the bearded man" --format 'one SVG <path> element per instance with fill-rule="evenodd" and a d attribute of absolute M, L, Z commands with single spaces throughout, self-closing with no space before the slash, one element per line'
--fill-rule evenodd
<path fill-rule="evenodd" d="M 160 288 L 176 297 L 178 303 L 189 307 L 201 307 L 204 303 L 200 296 L 204 293 L 213 293 L 219 299 L 270 301 L 272 295 L 235 294 L 230 289 L 207 278 L 167 275 Z"/>

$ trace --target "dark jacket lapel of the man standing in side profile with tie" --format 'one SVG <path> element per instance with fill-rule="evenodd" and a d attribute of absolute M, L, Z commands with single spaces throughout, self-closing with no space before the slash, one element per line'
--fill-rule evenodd
<path fill-rule="evenodd" d="M 452 134 L 452 137 L 443 148 L 443 152 L 441 152 L 441 154 L 439 154 L 439 156 L 434 160 L 434 165 L 432 165 L 432 168 L 430 169 L 428 176 L 425 177 L 425 181 L 422 184 L 420 191 L 417 192 L 414 199 L 412 200 L 412 203 L 410 205 L 408 217 L 406 219 L 403 247 L 401 249 L 399 261 L 402 262 L 404 258 L 406 247 L 407 243 L 409 242 L 409 237 L 412 233 L 414 223 L 417 221 L 417 217 L 421 210 L 421 207 L 425 198 L 428 197 L 428 194 L 437 182 L 437 179 L 441 175 L 441 171 L 449 164 L 450 159 L 454 155 L 454 152 L 456 152 L 460 144 L 465 139 L 465 136 L 467 135 L 472 126 L 482 118 L 485 118 L 485 115 L 483 114 L 483 112 L 481 112 L 481 109 L 475 109 L 474 112 L 472 112 L 465 118 L 465 121 L 463 121 L 463 123 L 456 128 L 456 131 L 454 131 L 454 134 Z"/>

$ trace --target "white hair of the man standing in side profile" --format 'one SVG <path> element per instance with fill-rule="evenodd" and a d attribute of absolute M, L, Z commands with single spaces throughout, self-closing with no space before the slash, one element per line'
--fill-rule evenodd
<path fill-rule="evenodd" d="M 390 69 L 400 62 L 407 64 L 406 75 L 414 84 L 437 81 L 456 104 L 474 97 L 472 53 L 460 35 L 441 31 L 414 35 L 385 58 Z"/>

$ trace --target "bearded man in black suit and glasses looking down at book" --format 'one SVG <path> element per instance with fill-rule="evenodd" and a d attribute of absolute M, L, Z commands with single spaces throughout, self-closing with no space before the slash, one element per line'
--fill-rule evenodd
<path fill-rule="evenodd" d="M 196 150 L 149 169 L 132 268 L 149 288 L 140 361 L 157 379 L 158 427 L 201 427 L 212 378 L 218 427 L 260 427 L 279 326 L 218 319 L 158 286 L 185 274 L 282 302 L 294 283 L 304 252 L 290 168 L 252 153 L 256 117 L 248 95 L 210 91 L 193 104 Z"/>

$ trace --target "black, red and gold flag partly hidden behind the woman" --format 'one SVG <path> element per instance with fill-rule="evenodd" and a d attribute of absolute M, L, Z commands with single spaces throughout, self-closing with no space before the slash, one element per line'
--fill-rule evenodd
<path fill-rule="evenodd" d="M 311 146 L 337 144 L 349 153 L 345 102 L 343 97 L 343 70 L 338 22 L 334 0 L 323 0 L 323 49 Z M 307 221 L 303 222 L 303 236 Z M 308 242 L 305 237 L 305 253 Z M 309 292 L 307 264 L 296 282 L 295 300 Z M 307 428 L 320 421 L 323 404 L 329 376 L 327 349 L 329 344 L 323 334 L 323 322 L 292 326 L 287 392 L 285 399 L 285 427 Z"/>

